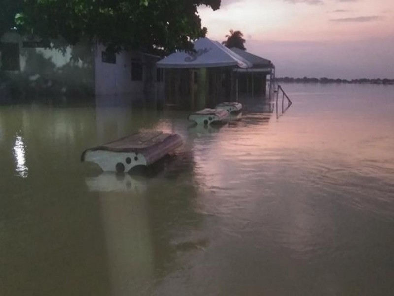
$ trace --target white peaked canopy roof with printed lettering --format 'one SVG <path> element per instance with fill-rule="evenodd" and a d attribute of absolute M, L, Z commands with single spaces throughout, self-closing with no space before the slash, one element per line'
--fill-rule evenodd
<path fill-rule="evenodd" d="M 217 41 L 200 38 L 194 42 L 196 52 L 177 51 L 156 63 L 159 68 L 208 68 L 239 67 L 251 68 L 253 65 L 245 58 L 231 51 Z"/>

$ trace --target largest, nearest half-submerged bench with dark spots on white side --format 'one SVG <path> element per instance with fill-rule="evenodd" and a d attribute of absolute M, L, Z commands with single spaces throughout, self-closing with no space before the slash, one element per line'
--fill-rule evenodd
<path fill-rule="evenodd" d="M 128 172 L 135 166 L 149 166 L 183 144 L 178 134 L 140 132 L 85 150 L 81 161 L 98 164 L 103 171 Z"/>

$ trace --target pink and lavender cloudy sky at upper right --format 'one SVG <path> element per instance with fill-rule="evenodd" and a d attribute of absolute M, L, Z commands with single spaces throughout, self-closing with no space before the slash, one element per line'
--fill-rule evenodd
<path fill-rule="evenodd" d="M 277 76 L 394 78 L 394 0 L 222 0 L 207 37 L 240 30 Z"/>

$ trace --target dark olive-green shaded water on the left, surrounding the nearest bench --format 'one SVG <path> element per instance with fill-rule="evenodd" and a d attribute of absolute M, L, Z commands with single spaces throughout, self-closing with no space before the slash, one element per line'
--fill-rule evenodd
<path fill-rule="evenodd" d="M 100 176 L 87 181 L 79 162 L 83 149 L 102 142 L 96 132 L 105 123 L 115 126 L 100 134 L 104 140 L 140 127 L 159 127 L 180 131 L 187 142 L 186 119 L 171 115 L 167 117 L 174 120 L 159 121 L 156 111 L 142 109 L 132 117 L 130 109 L 111 116 L 108 110 L 48 106 L 0 110 L 4 143 L 0 151 L 5 155 L 0 190 L 3 184 L 9 187 L 1 199 L 10 217 L 3 242 L 7 258 L 0 266 L 1 272 L 7 271 L 9 293 L 3 294 L 141 295 L 154 278 L 160 281 L 179 264 L 183 252 L 199 252 L 202 216 L 195 206 L 198 185 L 190 149 L 159 163 L 153 176 L 116 179 L 121 186 L 108 185 L 111 181 Z M 24 148 L 27 179 L 14 177 L 16 140 L 23 142 L 17 144 Z M 115 192 L 108 192 L 108 186 Z M 35 197 L 33 204 L 27 202 Z M 26 244 L 18 244 L 21 241 Z M 21 260 L 23 256 L 29 262 Z M 32 268 L 37 273 L 32 274 Z"/>

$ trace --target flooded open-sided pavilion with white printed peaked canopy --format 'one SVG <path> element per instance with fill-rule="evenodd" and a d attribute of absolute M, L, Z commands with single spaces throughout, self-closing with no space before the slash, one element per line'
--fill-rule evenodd
<path fill-rule="evenodd" d="M 202 108 L 239 95 L 265 96 L 275 66 L 266 59 L 230 50 L 217 41 L 200 38 L 194 52 L 175 52 L 157 62 L 163 69 L 167 104 Z"/>

